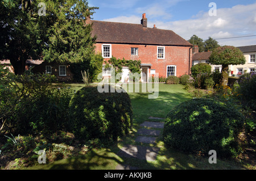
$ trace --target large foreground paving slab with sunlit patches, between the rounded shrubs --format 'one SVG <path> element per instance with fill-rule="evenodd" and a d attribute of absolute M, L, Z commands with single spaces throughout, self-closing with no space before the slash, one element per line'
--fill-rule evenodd
<path fill-rule="evenodd" d="M 155 161 L 159 148 L 151 146 L 126 145 L 117 153 L 119 157 L 146 159 L 147 161 Z"/>

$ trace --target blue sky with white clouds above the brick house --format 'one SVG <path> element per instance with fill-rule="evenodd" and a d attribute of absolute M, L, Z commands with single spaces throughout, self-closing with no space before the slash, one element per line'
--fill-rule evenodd
<path fill-rule="evenodd" d="M 236 39 L 226 37 L 256 35 L 255 0 L 88 0 L 89 6 L 99 7 L 94 20 L 139 24 L 146 13 L 148 27 L 172 30 L 184 39 L 197 35 L 213 37 L 221 45 L 253 45 L 256 36 Z M 210 16 L 209 3 L 217 6 L 216 16 Z"/>

